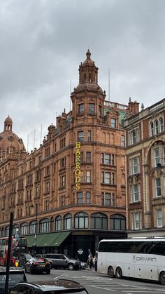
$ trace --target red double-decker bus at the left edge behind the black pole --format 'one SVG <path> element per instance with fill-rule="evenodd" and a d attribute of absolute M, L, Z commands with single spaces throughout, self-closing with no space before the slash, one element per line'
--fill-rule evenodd
<path fill-rule="evenodd" d="M 21 253 L 27 253 L 27 238 L 20 236 L 11 239 L 10 265 L 15 266 Z M 0 265 L 6 265 L 8 258 L 8 237 L 0 238 Z"/>

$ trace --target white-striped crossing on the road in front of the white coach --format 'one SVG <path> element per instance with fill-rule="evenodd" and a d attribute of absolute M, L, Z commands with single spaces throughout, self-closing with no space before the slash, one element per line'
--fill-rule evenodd
<path fill-rule="evenodd" d="M 59 277 L 58 277 L 59 278 Z M 73 276 L 69 274 L 62 274 L 60 275 L 62 279 L 73 279 Z M 85 288 L 95 288 L 96 293 L 100 293 L 97 290 L 109 290 L 112 292 L 123 293 L 123 294 L 136 294 L 136 293 L 165 293 L 164 288 L 158 288 L 155 286 L 133 286 L 132 283 L 128 284 L 127 281 L 115 281 L 114 279 L 110 279 L 108 277 L 101 277 L 101 276 L 74 276 L 74 280 L 78 283 L 81 283 Z"/>

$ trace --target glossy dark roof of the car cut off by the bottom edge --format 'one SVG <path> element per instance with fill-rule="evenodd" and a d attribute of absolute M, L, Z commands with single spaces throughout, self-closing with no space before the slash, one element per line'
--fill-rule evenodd
<path fill-rule="evenodd" d="M 34 286 L 34 288 L 39 288 L 43 291 L 50 291 L 50 290 L 80 290 L 85 289 L 80 283 L 77 283 L 76 281 L 66 280 L 66 279 L 57 279 L 54 281 L 34 281 L 34 282 L 20 282 L 17 283 L 18 285 L 29 285 Z"/>

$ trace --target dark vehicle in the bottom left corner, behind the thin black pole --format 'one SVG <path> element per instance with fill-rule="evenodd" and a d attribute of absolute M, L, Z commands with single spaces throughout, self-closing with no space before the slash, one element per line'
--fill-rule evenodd
<path fill-rule="evenodd" d="M 27 281 L 24 269 L 18 267 L 10 267 L 8 276 L 8 289 L 13 288 L 20 281 Z M 6 267 L 0 267 L 0 294 L 5 293 L 6 283 Z"/>

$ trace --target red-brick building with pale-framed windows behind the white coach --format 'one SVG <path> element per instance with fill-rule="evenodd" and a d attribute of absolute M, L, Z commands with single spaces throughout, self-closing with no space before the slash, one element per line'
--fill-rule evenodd
<path fill-rule="evenodd" d="M 165 236 L 165 100 L 125 120 L 127 232 Z"/>

